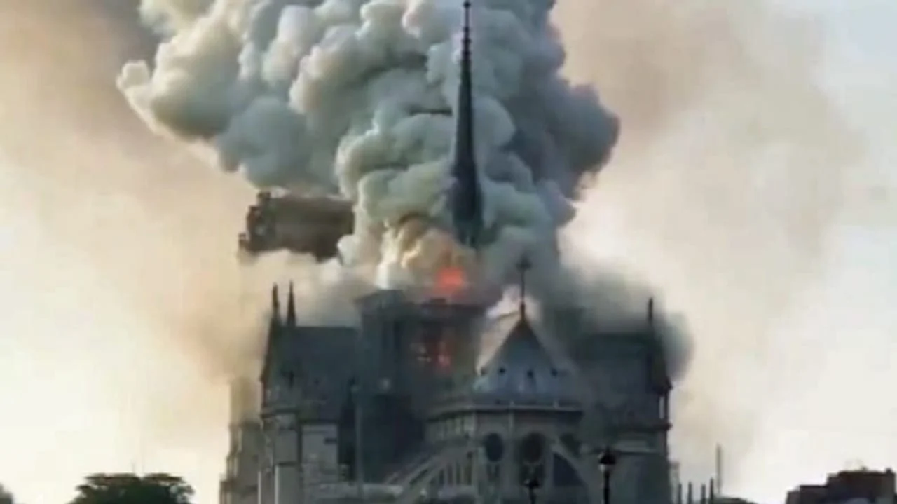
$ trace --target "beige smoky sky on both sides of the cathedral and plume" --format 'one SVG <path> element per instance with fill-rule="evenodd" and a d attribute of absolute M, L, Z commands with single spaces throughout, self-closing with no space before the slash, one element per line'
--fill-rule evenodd
<path fill-rule="evenodd" d="M 192 10 L 168 30 L 205 3 L 181 4 Z M 457 4 L 435 4 L 455 19 Z M 621 125 L 564 248 L 574 267 L 610 263 L 657 285 L 687 317 L 696 353 L 675 433 L 686 474 L 706 471 L 720 440 L 732 490 L 773 500 L 845 460 L 897 453 L 897 433 L 875 420 L 893 404 L 862 394 L 893 378 L 875 359 L 894 321 L 874 307 L 895 274 L 883 252 L 895 156 L 881 131 L 893 131 L 884 83 L 897 71 L 871 51 L 893 47 L 875 23 L 897 13 L 871 0 L 850 13 L 738 4 L 557 5 L 566 73 L 594 84 Z M 184 474 L 213 502 L 225 378 L 251 372 L 247 333 L 266 301 L 241 295 L 303 264 L 242 271 L 233 252 L 251 188 L 128 108 L 121 65 L 155 50 L 136 4 L 0 6 L 0 482 L 43 504 L 85 473 L 136 465 Z M 447 88 L 437 105 L 453 99 L 450 56 L 434 70 Z"/>

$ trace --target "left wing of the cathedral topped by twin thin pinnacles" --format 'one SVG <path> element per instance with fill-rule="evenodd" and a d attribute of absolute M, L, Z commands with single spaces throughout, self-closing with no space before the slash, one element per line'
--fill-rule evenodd
<path fill-rule="evenodd" d="M 352 327 L 298 326 L 276 287 L 262 371 L 259 504 L 295 504 L 341 473 L 339 421 L 353 378 Z M 345 365 L 348 361 L 348 365 Z M 344 365 L 340 365 L 340 363 Z"/>

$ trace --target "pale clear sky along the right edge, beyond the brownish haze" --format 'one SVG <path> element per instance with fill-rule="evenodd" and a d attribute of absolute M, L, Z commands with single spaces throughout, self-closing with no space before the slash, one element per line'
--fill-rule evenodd
<path fill-rule="evenodd" d="M 823 282 L 780 328 L 782 338 L 797 337 L 796 352 L 818 359 L 782 363 L 796 374 L 812 369 L 815 383 L 780 398 L 739 477 L 745 494 L 766 500 L 845 464 L 897 465 L 897 401 L 884 392 L 897 363 L 897 4 L 799 4 L 825 16 L 823 82 L 870 148 L 848 181 Z"/>

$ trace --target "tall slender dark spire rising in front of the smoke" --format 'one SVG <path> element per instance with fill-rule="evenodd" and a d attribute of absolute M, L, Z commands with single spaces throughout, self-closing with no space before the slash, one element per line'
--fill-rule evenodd
<path fill-rule="evenodd" d="M 451 213 L 457 241 L 477 249 L 483 233 L 483 194 L 476 169 L 474 76 L 470 46 L 470 0 L 465 0 L 455 112 L 455 152 L 452 165 L 455 186 L 451 195 Z"/>

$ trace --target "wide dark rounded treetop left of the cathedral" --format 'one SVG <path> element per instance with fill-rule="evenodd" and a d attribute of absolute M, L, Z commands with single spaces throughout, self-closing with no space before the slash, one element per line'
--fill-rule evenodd
<path fill-rule="evenodd" d="M 77 492 L 71 504 L 189 504 L 193 497 L 190 485 L 171 474 L 91 474 Z"/>

